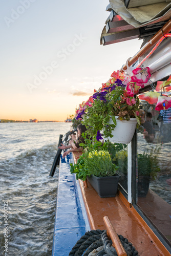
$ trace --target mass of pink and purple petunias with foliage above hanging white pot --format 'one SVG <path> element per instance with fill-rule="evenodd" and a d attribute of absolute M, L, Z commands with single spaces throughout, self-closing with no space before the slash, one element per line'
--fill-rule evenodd
<path fill-rule="evenodd" d="M 139 98 L 135 95 L 144 87 L 151 74 L 149 68 L 135 69 L 133 74 L 129 77 L 119 70 L 114 71 L 111 78 L 102 83 L 98 91 L 94 91 L 94 101 L 86 106 L 86 118 L 82 121 L 87 126 L 90 136 L 96 136 L 97 140 L 100 140 L 102 136 L 99 131 L 102 131 L 104 138 L 113 137 L 111 134 L 117 125 L 115 116 L 120 120 L 136 118 L 140 125 Z M 149 98 L 149 95 L 146 96 Z M 111 118 L 113 123 L 110 122 Z"/>

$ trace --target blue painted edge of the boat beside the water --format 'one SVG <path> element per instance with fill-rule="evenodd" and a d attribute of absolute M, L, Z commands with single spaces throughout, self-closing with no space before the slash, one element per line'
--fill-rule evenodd
<path fill-rule="evenodd" d="M 73 161 L 72 154 L 60 159 L 53 256 L 68 256 L 76 242 L 90 230 L 78 181 L 70 173 Z"/>

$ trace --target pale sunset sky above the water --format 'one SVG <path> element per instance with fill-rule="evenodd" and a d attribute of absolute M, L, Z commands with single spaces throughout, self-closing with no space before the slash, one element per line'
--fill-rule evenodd
<path fill-rule="evenodd" d="M 109 0 L 2 0 L 0 119 L 64 121 L 132 57 L 100 35 Z"/>

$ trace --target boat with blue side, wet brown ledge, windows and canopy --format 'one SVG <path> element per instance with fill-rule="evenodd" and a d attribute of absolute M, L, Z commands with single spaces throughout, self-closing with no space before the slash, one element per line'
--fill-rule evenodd
<path fill-rule="evenodd" d="M 149 67 L 153 84 L 171 75 L 171 3 L 159 2 L 110 0 L 106 8 L 110 15 L 101 34 L 102 45 L 143 39 L 139 52 L 123 63 L 120 70 L 129 73 L 131 67 L 143 64 Z M 147 83 L 139 93 L 151 90 L 151 84 Z M 156 116 L 151 104 L 142 102 L 141 106 L 152 113 L 160 131 L 159 112 Z M 170 136 L 170 130 L 167 135 Z M 87 231 L 106 229 L 103 219 L 106 216 L 116 232 L 135 246 L 138 255 L 171 255 L 170 141 L 162 141 L 162 172 L 148 184 L 146 194 L 144 191 L 139 194 L 137 155 L 153 143 L 146 142 L 138 131 L 127 144 L 126 182 L 119 183 L 116 197 L 100 198 L 89 182 L 87 186 L 70 174 L 70 163 L 76 162 L 80 153 L 61 157 L 52 255 L 74 255 L 70 254 L 72 248 Z"/>

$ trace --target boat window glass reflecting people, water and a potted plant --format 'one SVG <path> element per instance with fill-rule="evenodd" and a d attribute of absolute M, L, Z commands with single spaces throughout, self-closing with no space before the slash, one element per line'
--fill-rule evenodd
<path fill-rule="evenodd" d="M 137 134 L 137 205 L 171 242 L 171 108 L 155 111 L 141 102 Z"/>

